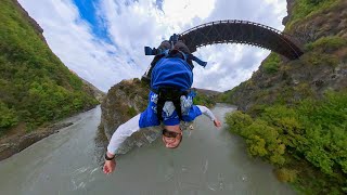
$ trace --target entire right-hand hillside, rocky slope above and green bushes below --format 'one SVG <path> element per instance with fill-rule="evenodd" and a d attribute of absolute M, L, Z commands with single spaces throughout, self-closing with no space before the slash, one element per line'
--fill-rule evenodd
<path fill-rule="evenodd" d="M 287 0 L 285 31 L 304 46 L 296 61 L 271 53 L 224 93 L 248 153 L 277 166 L 306 194 L 347 192 L 347 1 Z"/>

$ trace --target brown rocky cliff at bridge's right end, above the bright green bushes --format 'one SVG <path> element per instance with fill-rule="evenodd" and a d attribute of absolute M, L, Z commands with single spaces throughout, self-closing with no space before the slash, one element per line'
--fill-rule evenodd
<path fill-rule="evenodd" d="M 287 0 L 288 16 L 283 22 L 291 23 L 285 31 L 300 40 L 305 54 L 292 62 L 274 53 L 268 56 L 249 80 L 227 92 L 240 109 L 281 101 L 292 104 L 347 88 L 347 1 L 334 1 L 293 22 L 295 2 Z"/>

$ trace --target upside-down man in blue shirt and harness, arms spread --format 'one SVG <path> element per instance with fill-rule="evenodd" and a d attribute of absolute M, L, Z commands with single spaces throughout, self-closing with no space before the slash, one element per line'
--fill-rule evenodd
<path fill-rule="evenodd" d="M 191 54 L 177 35 L 163 41 L 157 49 L 145 47 L 146 55 L 155 55 L 149 70 L 142 77 L 150 81 L 149 105 L 144 112 L 123 123 L 113 133 L 105 154 L 104 173 L 115 170 L 115 153 L 132 133 L 147 127 L 163 126 L 162 140 L 167 148 L 177 148 L 182 141 L 180 122 L 193 121 L 202 114 L 211 119 L 216 127 L 221 122 L 203 105 L 194 105 L 193 63 L 202 66 L 206 62 Z"/>

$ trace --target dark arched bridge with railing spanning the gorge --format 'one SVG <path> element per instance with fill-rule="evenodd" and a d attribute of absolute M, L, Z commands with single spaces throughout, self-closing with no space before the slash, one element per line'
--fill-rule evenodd
<path fill-rule="evenodd" d="M 293 37 L 272 27 L 248 21 L 227 20 L 198 25 L 179 34 L 191 52 L 216 43 L 245 43 L 271 50 L 290 60 L 304 54 Z"/>

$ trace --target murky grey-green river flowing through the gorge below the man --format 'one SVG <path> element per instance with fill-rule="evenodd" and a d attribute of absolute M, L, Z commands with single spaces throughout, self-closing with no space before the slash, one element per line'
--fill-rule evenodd
<path fill-rule="evenodd" d="M 232 109 L 218 104 L 213 112 L 223 121 Z M 158 139 L 119 156 L 116 171 L 106 176 L 95 153 L 100 116 L 98 106 L 72 117 L 66 121 L 73 126 L 0 161 L 0 194 L 295 194 L 270 165 L 247 156 L 242 139 L 207 117 L 195 120 L 177 150 Z"/>

